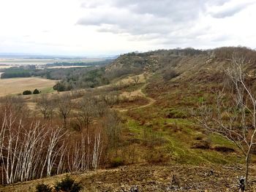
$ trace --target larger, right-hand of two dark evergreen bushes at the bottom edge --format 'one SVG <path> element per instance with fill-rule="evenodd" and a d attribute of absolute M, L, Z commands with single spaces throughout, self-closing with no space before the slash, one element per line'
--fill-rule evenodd
<path fill-rule="evenodd" d="M 56 191 L 69 191 L 69 192 L 78 192 L 82 190 L 82 185 L 80 183 L 75 183 L 69 175 L 66 175 L 63 180 L 56 183 L 54 186 Z"/>

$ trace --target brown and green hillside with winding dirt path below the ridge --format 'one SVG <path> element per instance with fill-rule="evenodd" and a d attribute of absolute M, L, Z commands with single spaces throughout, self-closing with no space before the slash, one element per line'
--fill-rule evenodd
<path fill-rule="evenodd" d="M 132 185 L 139 185 L 140 191 L 172 191 L 177 187 L 172 184 L 173 175 L 178 177 L 181 191 L 227 188 L 233 191 L 237 176 L 244 174 L 243 154 L 233 142 L 208 133 L 196 118 L 202 102 L 214 106 L 215 92 L 226 85 L 225 69 L 234 54 L 243 55 L 248 61 L 244 69 L 254 86 L 255 51 L 222 47 L 124 54 L 99 69 L 100 73 L 90 73 L 90 81 L 100 82 L 97 88 L 58 94 L 71 93 L 69 102 L 78 104 L 65 124 L 75 132 L 74 138 L 83 133 L 76 120 L 79 110 L 83 110 L 80 101 L 92 99 L 89 101 L 97 105 L 97 112 L 102 106 L 103 109 L 108 106 L 103 112 L 105 115 L 92 116 L 89 129 L 87 127 L 87 131 L 100 127 L 103 132 L 111 128 L 102 141 L 105 148 L 102 147 L 104 157 L 99 171 L 81 170 L 78 172 L 82 174 L 75 172 L 73 177 L 88 191 L 121 191 L 121 188 L 128 191 Z M 103 83 L 103 79 L 108 83 Z M 25 102 L 36 105 L 37 99 L 26 97 Z M 118 118 L 115 114 L 110 116 L 113 111 Z M 53 117 L 59 117 L 54 116 L 54 110 Z M 116 120 L 120 126 L 111 123 Z M 255 155 L 251 161 L 255 169 Z M 118 166 L 120 168 L 116 168 Z M 208 175 L 211 170 L 214 174 Z M 24 183 L 23 190 L 33 185 L 33 191 L 35 183 L 53 183 L 58 177 Z M 18 191 L 18 188 L 19 185 L 13 185 L 2 189 Z"/>

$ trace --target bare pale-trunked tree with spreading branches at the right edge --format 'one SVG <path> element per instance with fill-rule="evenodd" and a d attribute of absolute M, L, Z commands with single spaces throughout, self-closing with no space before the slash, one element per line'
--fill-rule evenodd
<path fill-rule="evenodd" d="M 231 66 L 226 70 L 231 93 L 225 93 L 223 89 L 217 94 L 216 107 L 200 107 L 200 123 L 241 150 L 245 157 L 245 183 L 248 185 L 250 157 L 256 144 L 256 97 L 246 80 L 245 64 L 244 58 L 233 57 Z"/>

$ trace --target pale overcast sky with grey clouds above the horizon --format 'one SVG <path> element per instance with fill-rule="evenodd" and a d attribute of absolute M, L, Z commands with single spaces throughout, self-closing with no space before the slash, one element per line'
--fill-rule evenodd
<path fill-rule="evenodd" d="M 256 0 L 0 0 L 0 53 L 256 47 Z"/>

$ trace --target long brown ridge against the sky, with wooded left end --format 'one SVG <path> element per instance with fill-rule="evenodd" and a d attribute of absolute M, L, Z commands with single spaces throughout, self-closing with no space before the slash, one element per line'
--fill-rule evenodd
<path fill-rule="evenodd" d="M 246 47 L 219 47 L 214 50 L 195 50 L 193 48 L 155 50 L 146 53 L 127 53 L 99 66 L 93 71 L 70 72 L 62 78 L 59 87 L 63 91 L 76 88 L 94 88 L 106 85 L 116 79 L 135 74 L 155 74 L 159 86 L 166 82 L 222 82 L 223 70 L 230 63 L 233 54 L 245 57 L 252 69 L 256 61 L 256 51 Z M 250 65 L 250 66 L 249 66 Z"/>

